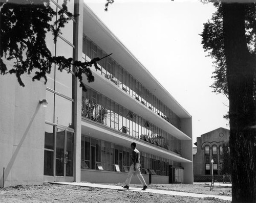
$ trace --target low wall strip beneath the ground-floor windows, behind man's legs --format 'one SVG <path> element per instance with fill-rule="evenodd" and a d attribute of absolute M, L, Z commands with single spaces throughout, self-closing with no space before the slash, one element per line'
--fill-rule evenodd
<path fill-rule="evenodd" d="M 81 181 L 87 181 L 90 183 L 124 183 L 128 173 L 114 172 L 114 171 L 101 171 L 101 170 L 81 170 Z M 148 175 L 144 175 L 146 184 L 149 183 Z M 140 184 L 137 175 L 132 177 L 131 183 Z M 169 177 L 163 175 L 152 175 L 151 183 L 168 184 Z"/>

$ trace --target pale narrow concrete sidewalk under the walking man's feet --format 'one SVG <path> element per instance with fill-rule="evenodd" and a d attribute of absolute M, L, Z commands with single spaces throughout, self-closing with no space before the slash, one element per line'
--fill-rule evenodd
<path fill-rule="evenodd" d="M 48 182 L 48 183 L 63 184 L 63 185 L 76 185 L 76 186 L 82 186 L 82 187 L 104 188 L 104 189 L 113 189 L 113 190 L 127 190 L 127 189 L 122 188 L 121 186 L 94 184 L 94 183 L 67 183 L 67 182 Z M 136 192 L 147 192 L 147 193 L 168 194 L 168 195 L 199 197 L 199 198 L 214 197 L 214 198 L 229 200 L 229 201 L 232 200 L 232 198 L 230 196 L 222 196 L 222 195 L 197 194 L 197 193 L 168 191 L 168 190 L 155 190 L 155 189 L 148 189 L 148 188 L 146 190 L 141 190 L 141 188 L 133 188 L 133 187 L 130 187 L 129 190 L 136 191 Z"/>

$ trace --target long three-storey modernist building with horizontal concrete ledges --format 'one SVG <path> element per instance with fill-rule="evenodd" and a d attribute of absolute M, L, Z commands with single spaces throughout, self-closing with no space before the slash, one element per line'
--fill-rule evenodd
<path fill-rule="evenodd" d="M 61 2 L 61 1 L 58 1 Z M 59 9 L 61 3 L 52 0 Z M 56 56 L 101 60 L 87 92 L 74 72 L 52 68 L 47 85 L 24 75 L 0 76 L 0 186 L 44 181 L 117 183 L 141 151 L 141 171 L 153 183 L 193 183 L 191 116 L 81 0 L 79 14 L 53 44 Z M 47 99 L 47 107 L 39 100 Z M 132 180 L 137 181 L 136 179 Z"/>

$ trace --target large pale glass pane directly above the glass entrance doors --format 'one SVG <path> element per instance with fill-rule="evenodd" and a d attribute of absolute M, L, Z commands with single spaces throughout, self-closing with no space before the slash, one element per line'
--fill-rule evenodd
<path fill-rule="evenodd" d="M 72 128 L 72 102 L 55 95 L 55 104 L 55 123 Z"/>

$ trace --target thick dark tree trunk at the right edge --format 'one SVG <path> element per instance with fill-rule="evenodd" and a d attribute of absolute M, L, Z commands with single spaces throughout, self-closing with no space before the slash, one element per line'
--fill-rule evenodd
<path fill-rule="evenodd" d="M 254 65 L 245 37 L 246 4 L 222 4 L 230 119 L 232 203 L 256 202 Z"/>

